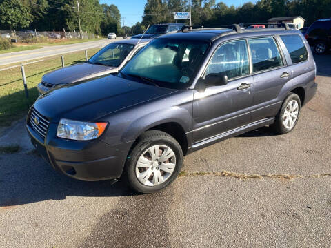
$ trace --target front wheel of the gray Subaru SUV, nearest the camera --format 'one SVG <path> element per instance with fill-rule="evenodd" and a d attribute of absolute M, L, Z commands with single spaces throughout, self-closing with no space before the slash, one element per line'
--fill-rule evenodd
<path fill-rule="evenodd" d="M 125 176 L 137 192 L 157 192 L 174 181 L 183 165 L 179 143 L 161 131 L 144 132 L 129 153 Z"/>

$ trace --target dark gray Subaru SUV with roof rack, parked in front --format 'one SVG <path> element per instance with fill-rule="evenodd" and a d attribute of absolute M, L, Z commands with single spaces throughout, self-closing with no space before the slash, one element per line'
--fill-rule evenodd
<path fill-rule="evenodd" d="M 117 75 L 43 94 L 26 127 L 38 152 L 80 180 L 156 192 L 183 156 L 270 125 L 291 132 L 314 96 L 316 65 L 301 32 L 184 29 L 154 39 Z"/>

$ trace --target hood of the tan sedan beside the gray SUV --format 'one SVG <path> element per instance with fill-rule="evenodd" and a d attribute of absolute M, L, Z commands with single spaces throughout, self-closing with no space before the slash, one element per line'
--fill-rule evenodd
<path fill-rule="evenodd" d="M 54 70 L 43 76 L 43 81 L 52 85 L 74 83 L 77 81 L 97 77 L 114 71 L 114 67 L 105 65 L 93 65 L 90 63 L 79 63 L 59 70 Z"/>

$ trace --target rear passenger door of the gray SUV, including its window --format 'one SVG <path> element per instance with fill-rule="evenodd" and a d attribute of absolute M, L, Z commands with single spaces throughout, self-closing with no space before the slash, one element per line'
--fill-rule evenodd
<path fill-rule="evenodd" d="M 254 101 L 252 122 L 276 116 L 281 107 L 281 89 L 292 79 L 274 37 L 248 39 L 252 57 Z"/>

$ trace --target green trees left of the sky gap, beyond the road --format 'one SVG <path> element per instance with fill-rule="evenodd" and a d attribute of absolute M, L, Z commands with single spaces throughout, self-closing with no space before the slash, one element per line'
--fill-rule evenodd
<path fill-rule="evenodd" d="M 79 31 L 77 0 L 0 0 L 0 30 Z M 114 4 L 79 0 L 81 30 L 95 34 L 123 33 Z"/>

